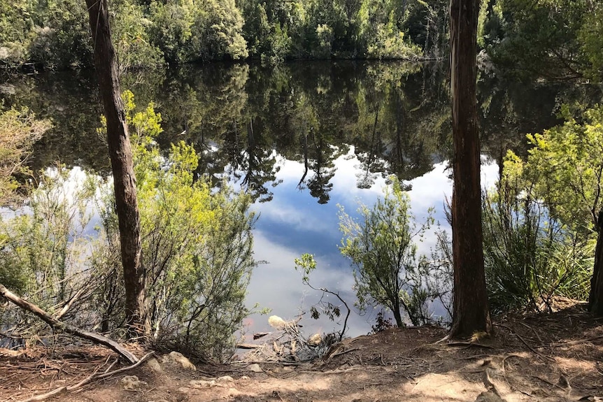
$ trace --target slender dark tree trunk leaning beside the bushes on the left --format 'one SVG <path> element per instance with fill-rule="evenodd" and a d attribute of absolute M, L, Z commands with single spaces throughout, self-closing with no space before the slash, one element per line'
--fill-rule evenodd
<path fill-rule="evenodd" d="M 94 45 L 94 62 L 107 120 L 107 143 L 113 182 L 115 209 L 120 225 L 124 268 L 125 313 L 130 336 L 146 332 L 145 275 L 141 266 L 141 234 L 136 202 L 136 178 L 132 147 L 121 99 L 115 50 L 111 43 L 107 0 L 86 0 Z"/>

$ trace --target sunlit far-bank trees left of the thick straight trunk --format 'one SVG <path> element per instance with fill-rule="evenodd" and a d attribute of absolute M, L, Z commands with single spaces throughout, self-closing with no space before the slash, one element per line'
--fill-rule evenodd
<path fill-rule="evenodd" d="M 122 68 L 214 60 L 445 54 L 446 0 L 111 0 Z M 92 65 L 83 0 L 0 1 L 0 64 Z"/>

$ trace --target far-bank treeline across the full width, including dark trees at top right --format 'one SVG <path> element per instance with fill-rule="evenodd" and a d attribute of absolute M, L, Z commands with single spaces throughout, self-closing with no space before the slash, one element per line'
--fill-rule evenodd
<path fill-rule="evenodd" d="M 110 0 L 109 7 L 122 69 L 448 57 L 447 0 Z M 0 1 L 0 67 L 92 66 L 87 21 L 83 0 Z M 481 0 L 478 45 L 486 68 L 598 81 L 603 2 Z"/>

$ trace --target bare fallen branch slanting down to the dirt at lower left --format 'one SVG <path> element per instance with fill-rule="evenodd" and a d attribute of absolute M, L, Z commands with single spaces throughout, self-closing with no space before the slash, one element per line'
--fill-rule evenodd
<path fill-rule="evenodd" d="M 115 340 L 111 340 L 99 333 L 83 331 L 73 325 L 60 322 L 59 320 L 46 313 L 44 310 L 42 310 L 35 304 L 29 303 L 29 301 L 23 300 L 13 292 L 10 292 L 10 290 L 6 289 L 6 287 L 4 287 L 4 285 L 2 284 L 0 284 L 0 295 L 4 296 L 8 301 L 14 303 L 16 306 L 19 306 L 20 308 L 27 310 L 30 313 L 34 313 L 34 315 L 40 317 L 43 322 L 52 326 L 52 329 L 59 329 L 66 333 L 70 333 L 71 335 L 79 336 L 80 338 L 92 340 L 92 342 L 94 343 L 104 345 L 109 349 L 113 350 L 113 352 L 119 354 L 127 361 L 129 361 L 130 364 L 136 364 L 136 362 L 139 361 L 139 359 L 136 359 L 136 356 L 134 356 L 134 354 L 129 352 L 129 350 L 125 349 L 125 347 L 122 347 L 119 343 L 115 342 Z"/>

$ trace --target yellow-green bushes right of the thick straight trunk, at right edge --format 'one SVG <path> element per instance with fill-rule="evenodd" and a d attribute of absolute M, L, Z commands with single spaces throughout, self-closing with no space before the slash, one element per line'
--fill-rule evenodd
<path fill-rule="evenodd" d="M 523 161 L 509 151 L 497 192 L 484 203 L 484 252 L 494 310 L 586 299 L 602 208 L 603 108 L 581 122 L 529 134 Z"/>

